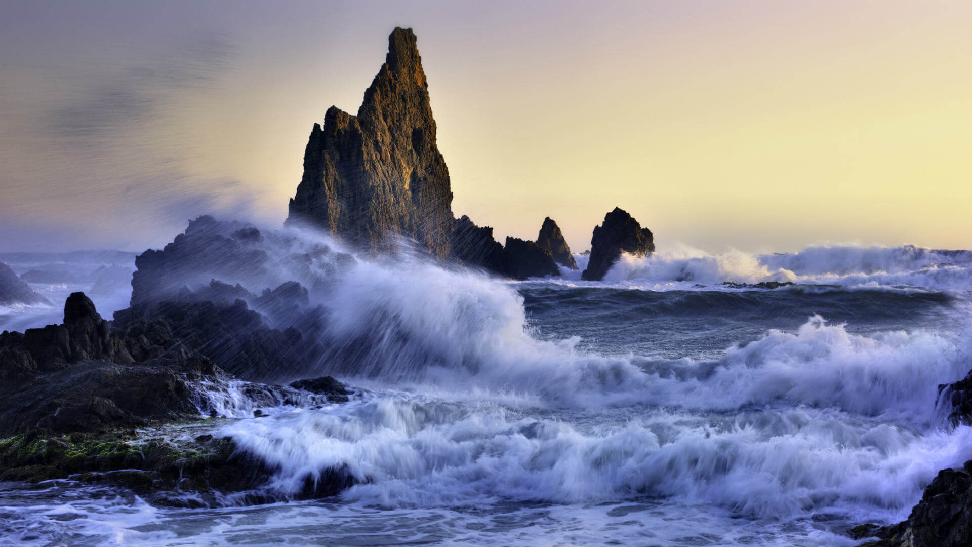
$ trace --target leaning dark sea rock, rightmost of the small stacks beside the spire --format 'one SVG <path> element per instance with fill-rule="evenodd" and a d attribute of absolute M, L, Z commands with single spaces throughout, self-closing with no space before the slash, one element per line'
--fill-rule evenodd
<path fill-rule="evenodd" d="M 601 226 L 594 228 L 591 237 L 591 259 L 580 276 L 588 281 L 600 281 L 622 252 L 644 256 L 654 252 L 651 231 L 642 228 L 637 220 L 619 207 L 605 215 Z"/>

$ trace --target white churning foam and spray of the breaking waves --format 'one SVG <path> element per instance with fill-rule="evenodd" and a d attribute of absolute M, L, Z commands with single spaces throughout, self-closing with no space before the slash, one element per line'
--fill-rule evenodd
<path fill-rule="evenodd" d="M 359 394 L 340 405 L 305 395 L 288 401 L 294 394 L 283 391 L 254 398 L 234 381 L 210 385 L 200 409 L 232 418 L 216 433 L 274 470 L 267 488 L 275 493 L 294 494 L 329 469 L 358 484 L 327 510 L 295 503 L 188 513 L 48 500 L 3 504 L 4 511 L 33 515 L 49 529 L 69 520 L 66 513 L 87 512 L 96 516 L 77 527 L 116 544 L 179 537 L 219 544 L 254 515 L 261 524 L 250 526 L 253 536 L 234 540 L 310 541 L 314 529 L 323 543 L 349 534 L 358 543 L 379 535 L 386 542 L 584 543 L 593 536 L 578 530 L 597 523 L 599 541 L 604 534 L 631 544 L 849 545 L 815 516 L 900 520 L 938 469 L 972 452 L 972 428 L 948 427 L 935 408 L 938 384 L 968 372 L 972 331 L 863 332 L 812 316 L 794 331 L 770 330 L 712 359 L 608 356 L 578 349 L 576 337 L 540 340 L 518 283 L 410 253 L 359 256 L 354 264 L 319 253 L 308 266 L 290 257 L 321 243 L 341 246 L 291 231 L 264 236 L 272 268 L 259 278 L 222 280 L 255 293 L 291 279 L 309 287 L 321 308 L 308 336 L 328 352 L 291 372 L 338 375 Z M 579 272 L 540 282 L 666 290 L 790 280 L 964 291 L 970 262 L 967 252 L 916 247 L 788 255 L 682 248 L 624 257 L 602 283 L 580 281 Z M 269 416 L 250 418 L 257 408 Z M 531 505 L 546 503 L 556 505 Z M 625 507 L 636 516 L 626 517 Z M 331 520 L 340 526 L 325 530 L 330 525 L 321 523 Z M 456 531 L 467 525 L 483 531 Z"/>

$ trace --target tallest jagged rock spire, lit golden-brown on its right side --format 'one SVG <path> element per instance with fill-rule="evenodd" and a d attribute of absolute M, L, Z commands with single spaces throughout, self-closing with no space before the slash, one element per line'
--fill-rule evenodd
<path fill-rule="evenodd" d="M 410 237 L 445 258 L 451 204 L 415 35 L 396 28 L 358 115 L 332 106 L 324 128 L 314 125 L 288 223 L 308 222 L 377 250 L 392 247 L 389 237 Z"/>

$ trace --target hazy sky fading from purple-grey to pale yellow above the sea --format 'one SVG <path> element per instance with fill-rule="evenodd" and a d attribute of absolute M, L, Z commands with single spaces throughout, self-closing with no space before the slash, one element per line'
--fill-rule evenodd
<path fill-rule="evenodd" d="M 411 27 L 453 211 L 571 247 L 972 248 L 972 2 L 0 1 L 0 251 L 280 226 Z"/>

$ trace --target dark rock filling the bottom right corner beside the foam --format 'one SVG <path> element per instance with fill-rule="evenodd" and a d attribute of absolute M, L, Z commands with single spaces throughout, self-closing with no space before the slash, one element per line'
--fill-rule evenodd
<path fill-rule="evenodd" d="M 966 547 L 972 545 L 972 460 L 962 469 L 943 469 L 903 523 L 861 525 L 851 537 L 878 537 L 871 547 Z"/>

